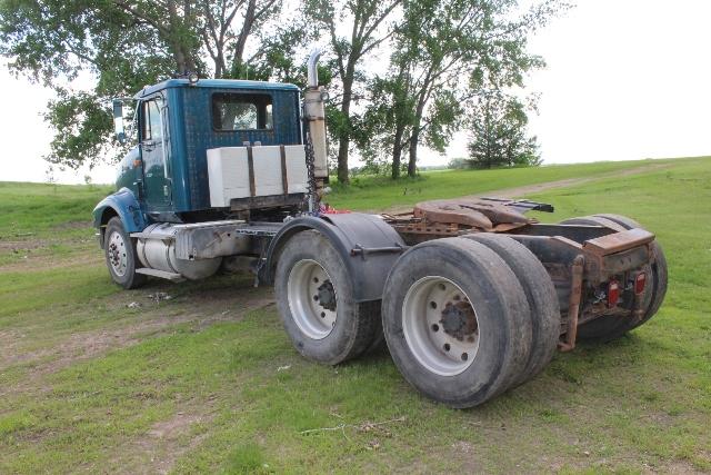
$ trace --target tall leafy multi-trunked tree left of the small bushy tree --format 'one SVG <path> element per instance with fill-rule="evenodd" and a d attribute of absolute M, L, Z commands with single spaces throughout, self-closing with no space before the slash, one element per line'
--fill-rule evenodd
<path fill-rule="evenodd" d="M 528 36 L 567 6 L 545 0 L 520 16 L 517 8 L 515 0 L 403 2 L 392 66 L 380 79 L 387 86 L 373 88 L 364 115 L 374 132 L 370 155 L 388 150 L 393 178 L 405 149 L 409 176 L 417 172 L 421 142 L 444 152 L 482 90 L 522 87 L 524 73 L 543 65 L 528 53 Z"/>

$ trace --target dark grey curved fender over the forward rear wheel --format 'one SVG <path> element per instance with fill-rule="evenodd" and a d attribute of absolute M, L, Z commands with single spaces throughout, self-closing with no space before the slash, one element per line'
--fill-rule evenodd
<path fill-rule="evenodd" d="M 407 246 L 390 225 L 373 215 L 352 212 L 292 219 L 271 240 L 261 280 L 273 284 L 283 246 L 293 235 L 311 229 L 327 237 L 341 255 L 356 301 L 382 298 L 388 273 Z"/>

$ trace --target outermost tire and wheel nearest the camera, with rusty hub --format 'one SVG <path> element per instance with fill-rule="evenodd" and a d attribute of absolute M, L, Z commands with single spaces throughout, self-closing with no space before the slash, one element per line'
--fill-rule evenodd
<path fill-rule="evenodd" d="M 503 393 L 529 359 L 525 294 L 501 257 L 470 239 L 437 239 L 403 254 L 388 276 L 382 311 L 400 373 L 450 407 Z"/>

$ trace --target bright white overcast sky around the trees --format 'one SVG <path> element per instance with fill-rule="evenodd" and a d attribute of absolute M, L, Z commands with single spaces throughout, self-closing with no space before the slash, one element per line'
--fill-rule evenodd
<path fill-rule="evenodd" d="M 531 41 L 545 70 L 531 118 L 545 164 L 711 155 L 711 1 L 578 0 Z M 51 132 L 41 118 L 51 92 L 0 71 L 0 181 L 46 181 Z M 465 155 L 455 137 L 448 157 Z M 113 167 L 56 172 L 60 182 L 112 182 Z"/>

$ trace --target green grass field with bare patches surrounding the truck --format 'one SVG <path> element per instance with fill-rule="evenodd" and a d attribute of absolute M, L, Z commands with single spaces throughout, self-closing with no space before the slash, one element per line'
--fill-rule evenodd
<path fill-rule="evenodd" d="M 0 184 L 0 473 L 711 471 L 711 158 L 368 178 L 331 199 L 580 177 L 529 196 L 557 207 L 539 217 L 637 218 L 667 253 L 667 301 L 469 410 L 421 397 L 387 354 L 303 360 L 249 276 L 120 291 L 89 228 L 109 188 Z"/>

